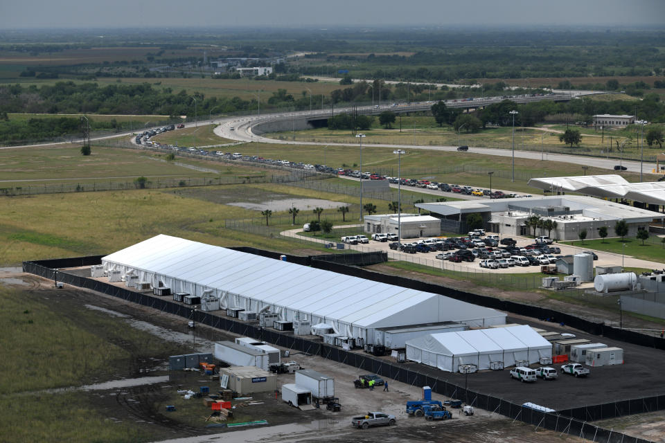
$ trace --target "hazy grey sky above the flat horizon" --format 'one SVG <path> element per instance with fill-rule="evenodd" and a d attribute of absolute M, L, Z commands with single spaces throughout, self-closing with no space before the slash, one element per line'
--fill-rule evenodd
<path fill-rule="evenodd" d="M 661 25 L 665 0 L 0 0 L 0 29 Z"/>

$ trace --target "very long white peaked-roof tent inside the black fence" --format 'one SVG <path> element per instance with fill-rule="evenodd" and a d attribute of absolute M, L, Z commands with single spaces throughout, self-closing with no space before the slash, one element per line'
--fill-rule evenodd
<path fill-rule="evenodd" d="M 233 249 L 157 235 L 103 257 L 105 271 L 132 272 L 172 292 L 220 298 L 221 309 L 273 312 L 280 320 L 327 323 L 374 344 L 374 329 L 457 321 L 506 323 L 506 314 L 405 287 L 373 282 Z M 204 294 L 205 292 L 205 294 Z"/>

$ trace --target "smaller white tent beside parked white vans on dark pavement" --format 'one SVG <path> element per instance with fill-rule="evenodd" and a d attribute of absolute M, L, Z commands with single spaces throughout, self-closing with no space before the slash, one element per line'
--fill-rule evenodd
<path fill-rule="evenodd" d="M 500 361 L 504 367 L 517 360 L 537 363 L 552 356 L 552 345 L 527 325 L 428 334 L 407 341 L 407 359 L 457 372 L 459 365 L 489 369 Z"/>

